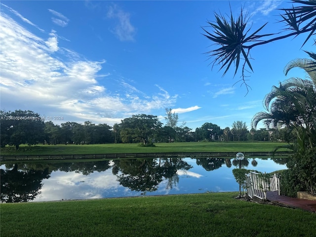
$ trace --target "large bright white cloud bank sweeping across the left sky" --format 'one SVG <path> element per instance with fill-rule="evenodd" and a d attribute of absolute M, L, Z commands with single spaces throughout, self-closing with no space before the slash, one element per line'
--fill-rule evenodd
<path fill-rule="evenodd" d="M 55 31 L 44 40 L 5 13 L 0 21 L 1 109 L 113 125 L 132 114 L 150 113 L 176 101 L 177 95 L 159 85 L 154 94 L 146 95 L 112 75 L 106 85 L 101 84 L 110 75 L 102 68 L 105 60 L 87 60 L 75 51 L 59 48 Z M 117 88 L 117 83 L 121 83 L 122 93 L 109 89 Z"/>

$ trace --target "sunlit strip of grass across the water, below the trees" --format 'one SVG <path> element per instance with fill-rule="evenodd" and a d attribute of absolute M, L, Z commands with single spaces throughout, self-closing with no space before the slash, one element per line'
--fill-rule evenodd
<path fill-rule="evenodd" d="M 272 152 L 278 142 L 179 142 L 156 143 L 156 147 L 140 147 L 138 144 L 98 144 L 98 145 L 37 145 L 1 149 L 1 155 L 77 155 L 77 154 L 121 154 L 121 153 L 190 153 L 190 152 Z M 282 150 L 280 150 L 282 151 Z M 283 150 L 286 151 L 286 150 Z"/>

